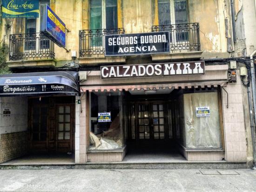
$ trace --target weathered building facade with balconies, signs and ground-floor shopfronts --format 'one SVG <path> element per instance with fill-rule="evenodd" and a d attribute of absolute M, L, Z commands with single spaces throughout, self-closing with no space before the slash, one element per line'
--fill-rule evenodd
<path fill-rule="evenodd" d="M 172 151 L 187 161 L 252 166 L 247 72 L 256 27 L 248 13 L 255 15 L 255 1 L 40 4 L 65 23 L 66 44 L 42 33 L 43 12 L 2 19 L 15 73 L 2 75 L 2 86 L 41 81 L 33 92 L 1 93 L 0 162 L 71 152 L 76 164 L 108 163 Z"/>

